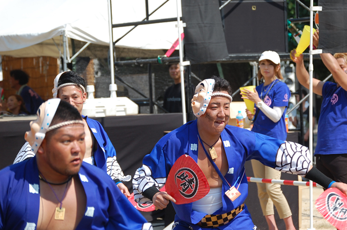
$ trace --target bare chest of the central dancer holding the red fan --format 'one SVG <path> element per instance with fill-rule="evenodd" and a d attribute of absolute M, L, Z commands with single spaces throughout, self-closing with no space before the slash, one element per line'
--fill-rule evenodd
<path fill-rule="evenodd" d="M 228 172 L 228 159 L 227 159 L 227 155 L 225 153 L 222 143 L 223 142 L 220 139 L 214 146 L 216 154 L 217 154 L 217 158 L 214 159 L 213 161 L 217 165 L 218 169 L 221 171 L 222 175 L 225 175 Z M 208 154 L 210 154 L 209 147 L 205 145 L 205 148 Z M 222 179 L 220 178 L 217 171 L 215 170 L 215 168 L 212 166 L 211 162 L 207 158 L 201 145 L 199 145 L 198 147 L 198 166 L 200 167 L 202 172 L 205 174 L 206 179 L 211 188 L 222 186 L 223 184 Z"/>

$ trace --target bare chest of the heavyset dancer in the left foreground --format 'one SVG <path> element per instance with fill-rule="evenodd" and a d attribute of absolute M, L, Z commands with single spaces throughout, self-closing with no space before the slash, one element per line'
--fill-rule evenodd
<path fill-rule="evenodd" d="M 61 201 L 66 185 L 52 185 L 54 192 Z M 81 221 L 85 207 L 86 195 L 79 179 L 68 183 L 66 193 L 62 199 L 62 210 L 56 220 L 56 209 L 60 210 L 60 202 L 49 185 L 40 181 L 40 210 L 37 230 L 74 230 Z M 78 194 L 78 196 L 76 195 Z"/>

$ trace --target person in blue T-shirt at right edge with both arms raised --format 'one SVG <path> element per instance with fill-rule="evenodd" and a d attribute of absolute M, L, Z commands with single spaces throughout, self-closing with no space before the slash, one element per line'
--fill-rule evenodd
<path fill-rule="evenodd" d="M 313 45 L 319 45 L 319 31 L 313 35 Z M 347 53 L 321 54 L 324 65 L 332 73 L 334 82 L 312 79 L 313 93 L 323 97 L 318 121 L 317 146 L 314 155 L 316 166 L 328 177 L 347 182 Z M 303 56 L 291 58 L 296 63 L 296 77 L 300 84 L 309 88 L 309 73 Z"/>

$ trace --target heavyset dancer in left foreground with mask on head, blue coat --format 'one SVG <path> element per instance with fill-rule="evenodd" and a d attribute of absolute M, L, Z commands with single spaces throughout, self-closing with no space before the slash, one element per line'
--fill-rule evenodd
<path fill-rule="evenodd" d="M 43 103 L 25 139 L 36 155 L 0 171 L 1 230 L 153 230 L 110 176 L 82 163 L 84 122 L 73 106 Z"/>

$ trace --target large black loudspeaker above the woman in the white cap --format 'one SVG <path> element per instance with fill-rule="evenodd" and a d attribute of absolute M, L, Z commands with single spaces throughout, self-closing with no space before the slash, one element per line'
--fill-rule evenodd
<path fill-rule="evenodd" d="M 232 0 L 222 21 L 229 54 L 288 53 L 286 0 Z"/>

